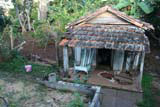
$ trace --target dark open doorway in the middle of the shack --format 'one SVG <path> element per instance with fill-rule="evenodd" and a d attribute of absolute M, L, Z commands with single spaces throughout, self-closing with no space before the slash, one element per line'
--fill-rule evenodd
<path fill-rule="evenodd" d="M 97 64 L 111 66 L 111 49 L 98 49 Z"/>

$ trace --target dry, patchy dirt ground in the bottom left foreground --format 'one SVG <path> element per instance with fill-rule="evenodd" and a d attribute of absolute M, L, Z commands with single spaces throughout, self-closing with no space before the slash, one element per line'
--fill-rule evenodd
<path fill-rule="evenodd" d="M 10 107 L 66 107 L 73 93 L 46 88 L 27 76 L 2 73 L 0 96 L 5 97 Z"/>

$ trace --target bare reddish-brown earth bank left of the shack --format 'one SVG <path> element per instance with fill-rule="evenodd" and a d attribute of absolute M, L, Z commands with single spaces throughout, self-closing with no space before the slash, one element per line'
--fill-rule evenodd
<path fill-rule="evenodd" d="M 26 44 L 21 50 L 22 55 L 29 57 L 30 55 L 38 55 L 41 58 L 47 58 L 50 60 L 56 60 L 56 49 L 54 41 L 50 43 L 44 43 L 42 46 L 40 43 L 31 37 L 26 37 Z"/>

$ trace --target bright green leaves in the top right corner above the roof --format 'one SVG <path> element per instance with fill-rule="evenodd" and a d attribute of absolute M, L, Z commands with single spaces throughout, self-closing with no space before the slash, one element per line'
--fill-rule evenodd
<path fill-rule="evenodd" d="M 152 13 L 159 5 L 159 0 L 118 0 L 119 3 L 114 7 L 125 11 L 134 17 L 142 17 L 143 15 Z M 130 7 L 128 9 L 128 7 Z"/>

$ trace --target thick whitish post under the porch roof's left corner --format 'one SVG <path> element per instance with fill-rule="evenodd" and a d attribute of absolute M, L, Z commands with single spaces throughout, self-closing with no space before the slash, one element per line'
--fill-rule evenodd
<path fill-rule="evenodd" d="M 68 59 L 68 48 L 63 47 L 63 66 L 64 72 L 67 72 L 69 69 L 69 59 Z"/>

